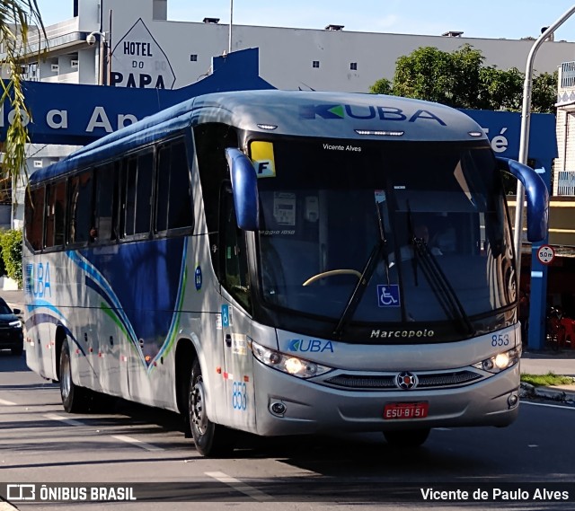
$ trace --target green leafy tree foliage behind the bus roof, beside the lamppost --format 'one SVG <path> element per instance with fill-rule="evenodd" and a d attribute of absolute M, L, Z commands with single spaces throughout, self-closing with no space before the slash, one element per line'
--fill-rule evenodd
<path fill-rule="evenodd" d="M 438 48 L 417 48 L 395 63 L 393 82 L 382 78 L 371 93 L 437 101 L 455 108 L 520 111 L 525 74 L 483 66 L 481 50 L 464 44 L 452 52 Z M 557 72 L 535 75 L 532 110 L 554 112 Z"/>

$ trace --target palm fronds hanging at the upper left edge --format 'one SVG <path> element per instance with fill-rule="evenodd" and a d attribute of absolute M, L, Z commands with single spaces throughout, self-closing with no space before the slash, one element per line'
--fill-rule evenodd
<path fill-rule="evenodd" d="M 29 52 L 32 27 L 34 36 L 40 35 L 37 27 L 46 36 L 36 0 L 0 0 L 0 65 L 4 75 L 8 76 L 6 80 L 0 80 L 3 87 L 0 105 L 8 101 L 13 111 L 13 119 L 8 124 L 4 140 L 4 162 L 0 177 L 13 185 L 22 172 L 26 175 L 25 148 L 30 141 L 26 125 L 31 119 L 31 113 L 24 104 L 22 57 Z"/>

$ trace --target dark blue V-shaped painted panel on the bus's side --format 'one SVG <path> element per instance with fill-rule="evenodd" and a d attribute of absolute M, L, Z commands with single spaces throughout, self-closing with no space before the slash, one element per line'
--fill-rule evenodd
<path fill-rule="evenodd" d="M 187 252 L 186 237 L 120 243 L 112 257 L 98 249 L 66 252 L 84 273 L 85 286 L 102 297 L 123 325 L 148 370 L 169 352 L 179 330 Z M 178 267 L 179 272 L 171 271 Z M 119 285 L 112 289 L 109 282 Z"/>

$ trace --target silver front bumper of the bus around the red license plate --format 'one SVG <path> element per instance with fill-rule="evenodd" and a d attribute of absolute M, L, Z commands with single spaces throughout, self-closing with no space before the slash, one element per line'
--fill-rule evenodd
<path fill-rule="evenodd" d="M 519 366 L 456 388 L 341 390 L 254 362 L 257 434 L 509 426 L 518 412 Z M 385 405 L 427 403 L 425 418 L 384 418 Z M 400 405 L 401 406 L 401 405 Z"/>

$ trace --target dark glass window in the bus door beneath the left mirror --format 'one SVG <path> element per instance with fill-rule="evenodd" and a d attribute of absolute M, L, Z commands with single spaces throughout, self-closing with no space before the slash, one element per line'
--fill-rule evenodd
<path fill-rule="evenodd" d="M 234 196 L 229 189 L 222 190 L 220 236 L 222 285 L 246 311 L 251 312 L 245 237 L 237 226 Z"/>

